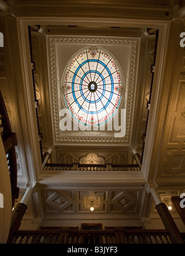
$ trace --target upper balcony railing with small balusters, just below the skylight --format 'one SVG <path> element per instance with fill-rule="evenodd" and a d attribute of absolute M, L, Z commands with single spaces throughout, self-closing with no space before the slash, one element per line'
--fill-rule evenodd
<path fill-rule="evenodd" d="M 55 164 L 46 163 L 46 171 L 140 171 L 138 164 Z"/>

